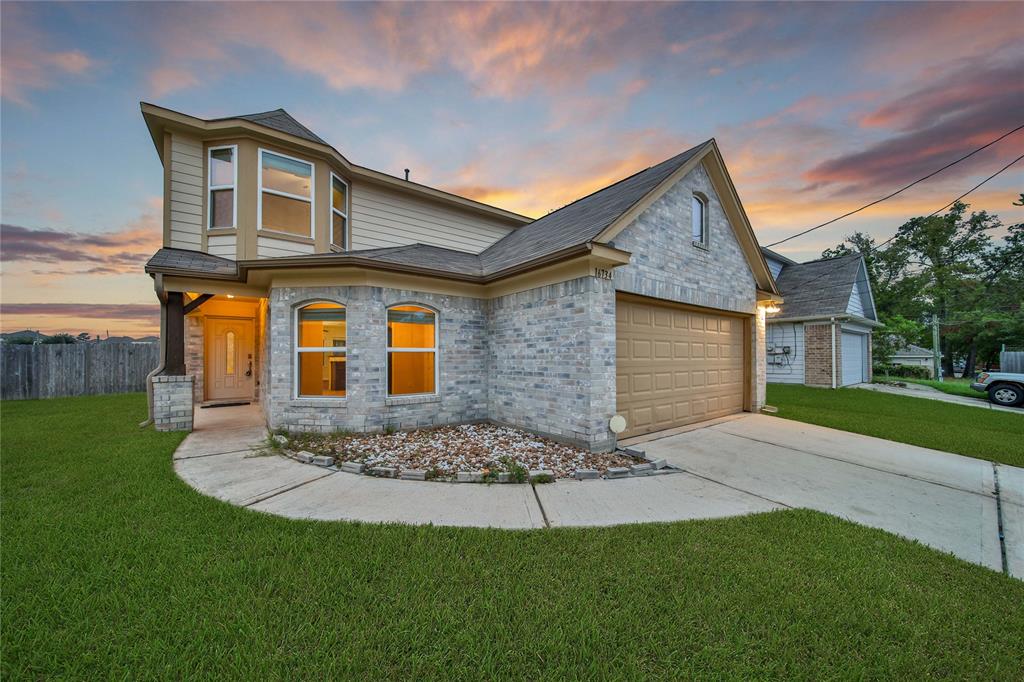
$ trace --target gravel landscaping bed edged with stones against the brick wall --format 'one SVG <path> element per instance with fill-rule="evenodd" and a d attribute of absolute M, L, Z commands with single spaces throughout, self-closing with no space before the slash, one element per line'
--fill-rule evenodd
<path fill-rule="evenodd" d="M 637 460 L 622 453 L 594 454 L 519 429 L 493 424 L 441 426 L 373 434 L 292 433 L 288 450 L 360 462 L 368 470 L 424 471 L 427 478 L 455 480 L 460 471 L 482 472 L 484 480 L 511 474 L 525 480 L 528 471 L 549 471 L 568 478 L 577 470 L 629 467 Z"/>

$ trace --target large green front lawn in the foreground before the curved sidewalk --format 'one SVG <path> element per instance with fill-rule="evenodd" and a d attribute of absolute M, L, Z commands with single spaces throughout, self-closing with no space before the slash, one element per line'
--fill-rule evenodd
<path fill-rule="evenodd" d="M 777 396 L 776 396 L 777 397 Z M 4 680 L 1018 678 L 1024 583 L 810 511 L 293 521 L 173 473 L 141 395 L 2 406 Z"/>

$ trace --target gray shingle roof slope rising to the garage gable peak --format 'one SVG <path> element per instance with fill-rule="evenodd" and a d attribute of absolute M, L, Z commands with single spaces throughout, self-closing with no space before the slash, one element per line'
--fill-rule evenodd
<path fill-rule="evenodd" d="M 484 272 L 499 272 L 593 241 L 705 144 L 707 142 L 578 199 L 503 237 L 480 254 Z"/>

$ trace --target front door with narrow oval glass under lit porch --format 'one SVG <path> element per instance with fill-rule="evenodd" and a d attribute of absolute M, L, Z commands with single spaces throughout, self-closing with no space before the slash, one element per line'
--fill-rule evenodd
<path fill-rule="evenodd" d="M 256 385 L 253 321 L 206 321 L 206 399 L 251 400 Z"/>

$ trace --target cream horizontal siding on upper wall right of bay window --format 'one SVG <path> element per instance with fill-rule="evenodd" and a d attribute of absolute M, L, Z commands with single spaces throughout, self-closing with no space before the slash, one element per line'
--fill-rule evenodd
<path fill-rule="evenodd" d="M 512 230 L 499 220 L 375 185 L 353 183 L 351 191 L 353 249 L 421 243 L 479 253 Z"/>

